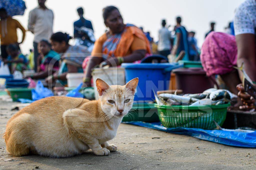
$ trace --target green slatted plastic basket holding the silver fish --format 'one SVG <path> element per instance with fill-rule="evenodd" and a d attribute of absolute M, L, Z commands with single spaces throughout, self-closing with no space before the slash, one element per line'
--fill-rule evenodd
<path fill-rule="evenodd" d="M 155 104 L 163 126 L 201 129 L 216 128 L 214 121 L 222 126 L 229 106 L 229 103 L 217 106 L 160 106 Z"/>

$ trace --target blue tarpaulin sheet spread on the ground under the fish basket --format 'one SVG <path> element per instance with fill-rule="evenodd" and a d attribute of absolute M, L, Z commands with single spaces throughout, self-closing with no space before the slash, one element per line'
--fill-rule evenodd
<path fill-rule="evenodd" d="M 228 146 L 256 148 L 256 131 L 251 133 L 226 131 L 226 130 L 204 130 L 198 128 L 166 128 L 160 122 L 145 123 L 145 122 L 123 122 L 151 129 L 161 130 L 164 132 L 175 133 L 180 135 L 189 135 L 198 139 L 207 140 L 215 143 L 220 143 Z"/>

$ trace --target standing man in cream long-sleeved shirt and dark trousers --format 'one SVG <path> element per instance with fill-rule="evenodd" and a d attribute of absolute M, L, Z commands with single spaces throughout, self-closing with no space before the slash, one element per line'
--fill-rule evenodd
<path fill-rule="evenodd" d="M 39 6 L 29 12 L 28 18 L 28 30 L 35 35 L 33 43 L 35 71 L 37 70 L 38 43 L 42 39 L 49 40 L 52 35 L 54 15 L 52 10 L 45 6 L 45 1 L 38 0 Z"/>

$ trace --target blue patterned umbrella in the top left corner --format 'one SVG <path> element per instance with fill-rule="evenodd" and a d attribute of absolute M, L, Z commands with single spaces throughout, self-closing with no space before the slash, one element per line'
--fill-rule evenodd
<path fill-rule="evenodd" d="M 4 8 L 9 16 L 23 15 L 26 9 L 22 0 L 1 0 L 0 9 Z"/>

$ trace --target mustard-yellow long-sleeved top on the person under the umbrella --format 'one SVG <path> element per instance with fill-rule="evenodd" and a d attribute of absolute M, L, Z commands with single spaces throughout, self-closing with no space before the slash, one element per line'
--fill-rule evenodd
<path fill-rule="evenodd" d="M 17 28 L 22 30 L 23 37 L 22 41 L 25 39 L 26 30 L 16 19 L 12 17 L 7 17 L 6 19 L 0 20 L 0 38 L 1 45 L 9 45 L 18 42 Z"/>

